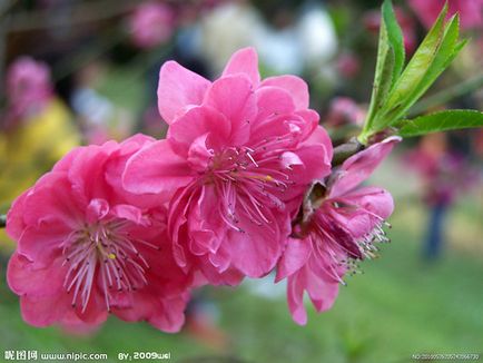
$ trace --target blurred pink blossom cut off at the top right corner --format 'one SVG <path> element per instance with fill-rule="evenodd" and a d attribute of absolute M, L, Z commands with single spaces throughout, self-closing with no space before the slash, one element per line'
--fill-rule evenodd
<path fill-rule="evenodd" d="M 430 29 L 436 21 L 440 11 L 446 0 L 410 0 L 410 7 L 414 10 L 421 22 Z M 447 0 L 447 17 L 460 13 L 463 29 L 477 28 L 483 24 L 483 0 Z"/>

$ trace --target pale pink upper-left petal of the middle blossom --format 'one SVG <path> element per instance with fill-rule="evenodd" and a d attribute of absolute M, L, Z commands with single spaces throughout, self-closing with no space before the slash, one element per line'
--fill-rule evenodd
<path fill-rule="evenodd" d="M 159 71 L 158 108 L 167 124 L 187 107 L 200 105 L 210 82 L 175 61 L 167 61 Z"/>

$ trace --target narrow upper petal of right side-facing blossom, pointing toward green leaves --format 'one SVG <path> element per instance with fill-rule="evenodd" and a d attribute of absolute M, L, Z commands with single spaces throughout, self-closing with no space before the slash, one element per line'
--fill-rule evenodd
<path fill-rule="evenodd" d="M 345 160 L 341 167 L 341 177 L 332 187 L 331 197 L 343 195 L 367 179 L 400 141 L 401 137 L 388 137 Z"/>

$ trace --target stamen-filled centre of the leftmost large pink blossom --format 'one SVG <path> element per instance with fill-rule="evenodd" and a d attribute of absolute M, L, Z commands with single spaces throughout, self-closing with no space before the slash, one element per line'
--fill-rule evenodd
<path fill-rule="evenodd" d="M 129 224 L 129 220 L 112 219 L 85 225 L 63 242 L 63 264 L 69 264 L 63 286 L 69 294 L 73 292 L 72 307 L 80 300 L 83 313 L 98 283 L 109 312 L 114 291 L 131 292 L 148 284 L 149 264 L 135 245 L 159 248 L 132 239 L 126 230 Z"/>

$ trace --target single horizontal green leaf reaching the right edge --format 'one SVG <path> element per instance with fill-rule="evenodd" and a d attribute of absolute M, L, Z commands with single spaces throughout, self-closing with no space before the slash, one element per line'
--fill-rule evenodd
<path fill-rule="evenodd" d="M 438 111 L 412 120 L 401 120 L 397 127 L 400 127 L 397 134 L 402 137 L 483 127 L 483 112 L 465 109 Z"/>

